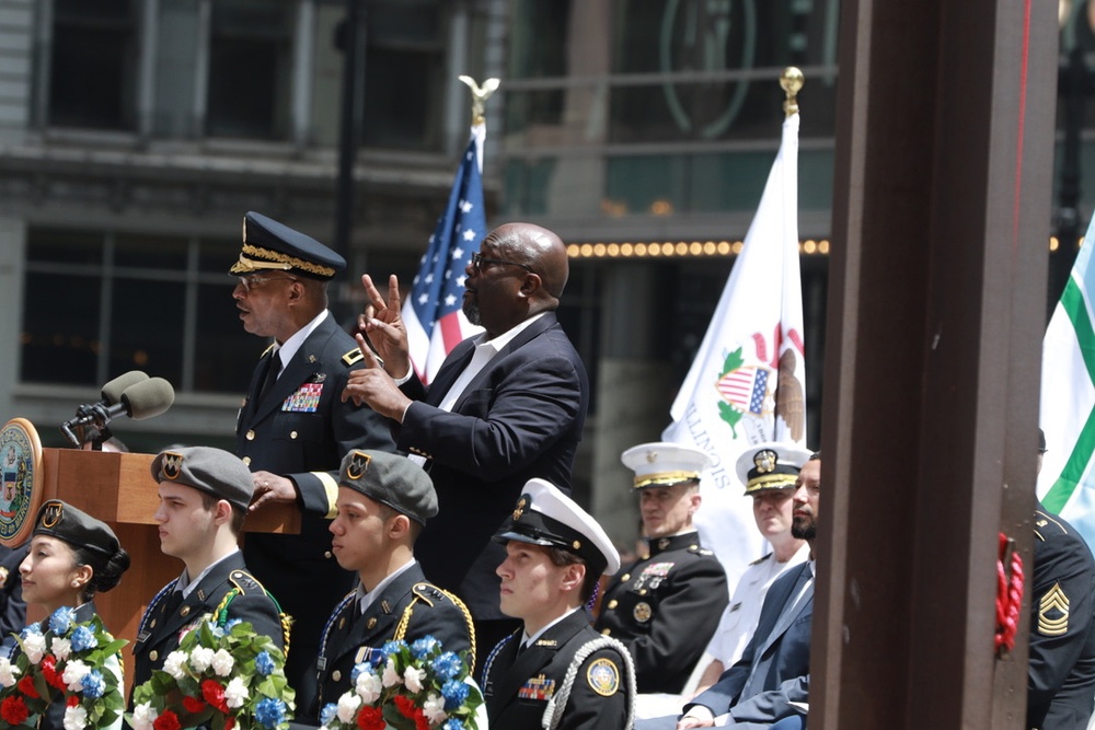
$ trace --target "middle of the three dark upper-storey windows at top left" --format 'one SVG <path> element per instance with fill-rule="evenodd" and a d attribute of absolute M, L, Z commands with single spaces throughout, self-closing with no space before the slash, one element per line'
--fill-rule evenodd
<path fill-rule="evenodd" d="M 286 0 L 214 2 L 206 105 L 209 136 L 288 136 L 293 7 Z"/>

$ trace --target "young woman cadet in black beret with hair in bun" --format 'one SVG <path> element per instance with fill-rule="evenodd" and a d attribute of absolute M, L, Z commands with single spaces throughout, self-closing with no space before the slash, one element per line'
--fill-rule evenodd
<path fill-rule="evenodd" d="M 19 566 L 19 572 L 23 598 L 28 603 L 41 605 L 47 616 L 65 606 L 74 609 L 73 622 L 84 623 L 95 616 L 92 602 L 95 593 L 117 586 L 128 568 L 129 554 L 105 522 L 59 499 L 50 499 L 38 509 L 30 552 Z M 48 629 L 48 623 L 46 618 L 39 624 L 43 633 Z M 120 657 L 108 659 L 106 668 L 120 680 Z M 64 698 L 57 691 L 54 695 L 53 704 L 37 726 L 42 730 L 62 730 L 65 727 Z M 119 716 L 112 727 L 120 725 Z"/>

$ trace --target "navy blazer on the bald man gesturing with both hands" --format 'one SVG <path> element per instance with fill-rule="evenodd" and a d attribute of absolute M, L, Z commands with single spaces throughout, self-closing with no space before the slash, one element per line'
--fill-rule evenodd
<path fill-rule="evenodd" d="M 589 407 L 578 352 L 548 312 L 519 333 L 468 384 L 452 412 L 438 407 L 474 354 L 471 339 L 445 359 L 426 390 L 403 385 L 416 403 L 393 429 L 399 449 L 431 460 L 437 517 L 415 544 L 427 576 L 479 619 L 502 618 L 494 570 L 505 549 L 491 541 L 532 477 L 570 490 L 570 470 Z"/>

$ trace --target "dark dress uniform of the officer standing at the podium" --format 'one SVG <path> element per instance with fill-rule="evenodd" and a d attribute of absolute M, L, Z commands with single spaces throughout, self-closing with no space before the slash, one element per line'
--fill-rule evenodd
<path fill-rule="evenodd" d="M 292 684 L 307 676 L 319 650 L 320 631 L 331 609 L 353 584 L 350 572 L 331 555 L 328 519 L 338 497 L 337 471 L 351 449 L 393 451 L 387 419 L 368 407 L 343 403 L 351 370 L 364 367 L 353 337 L 334 317 L 312 332 L 261 402 L 266 354 L 255 369 L 235 428 L 235 453 L 252 472 L 289 476 L 300 490 L 299 535 L 250 533 L 244 556 L 256 578 L 295 619 L 288 675 Z"/>

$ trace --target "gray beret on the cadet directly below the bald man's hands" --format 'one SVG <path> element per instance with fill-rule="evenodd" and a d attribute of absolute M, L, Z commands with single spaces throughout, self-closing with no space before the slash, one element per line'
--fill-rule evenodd
<path fill-rule="evenodd" d="M 420 524 L 437 514 L 433 479 L 406 456 L 355 449 L 343 457 L 338 486 L 388 505 Z"/>

